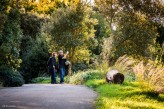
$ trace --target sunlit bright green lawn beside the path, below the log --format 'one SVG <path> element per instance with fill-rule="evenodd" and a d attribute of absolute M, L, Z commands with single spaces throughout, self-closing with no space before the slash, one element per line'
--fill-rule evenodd
<path fill-rule="evenodd" d="M 145 92 L 137 82 L 115 85 L 88 80 L 85 85 L 98 92 L 97 109 L 164 109 L 164 95 Z"/>

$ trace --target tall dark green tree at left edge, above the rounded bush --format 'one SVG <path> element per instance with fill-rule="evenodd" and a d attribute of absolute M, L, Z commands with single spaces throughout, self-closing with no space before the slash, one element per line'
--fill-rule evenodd
<path fill-rule="evenodd" d="M 2 27 L 0 39 L 3 40 L 1 40 L 0 44 L 0 65 L 18 68 L 21 63 L 21 60 L 19 59 L 19 48 L 22 37 L 19 12 L 11 9 Z"/>

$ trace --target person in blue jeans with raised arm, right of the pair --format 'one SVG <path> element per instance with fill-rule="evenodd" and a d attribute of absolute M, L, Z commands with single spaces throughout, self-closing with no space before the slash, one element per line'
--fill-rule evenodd
<path fill-rule="evenodd" d="M 59 50 L 59 55 L 58 55 L 58 61 L 59 61 L 59 71 L 60 71 L 60 83 L 64 83 L 64 76 L 65 76 L 65 62 L 66 62 L 66 56 L 68 52 L 64 55 L 62 50 Z"/>

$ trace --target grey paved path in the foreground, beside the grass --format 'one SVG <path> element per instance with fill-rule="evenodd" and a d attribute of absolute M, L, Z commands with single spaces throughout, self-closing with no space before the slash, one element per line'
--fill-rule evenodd
<path fill-rule="evenodd" d="M 81 85 L 27 84 L 0 89 L 0 109 L 94 109 L 96 97 Z"/>

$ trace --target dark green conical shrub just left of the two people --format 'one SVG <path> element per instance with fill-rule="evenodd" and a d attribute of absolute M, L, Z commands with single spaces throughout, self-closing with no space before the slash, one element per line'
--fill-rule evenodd
<path fill-rule="evenodd" d="M 30 82 L 39 74 L 47 73 L 48 49 L 44 35 L 40 35 L 32 41 L 30 49 L 24 54 L 24 61 L 20 69 L 26 82 Z"/>

